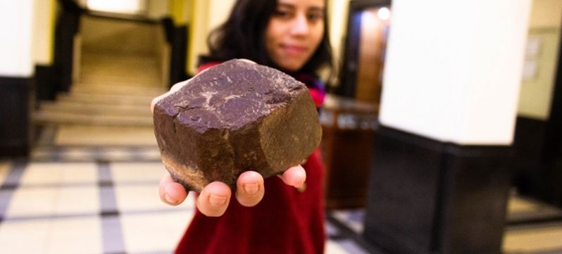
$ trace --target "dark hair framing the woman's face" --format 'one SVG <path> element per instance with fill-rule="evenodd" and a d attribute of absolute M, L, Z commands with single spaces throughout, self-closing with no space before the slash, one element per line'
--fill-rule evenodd
<path fill-rule="evenodd" d="M 237 0 L 225 23 L 209 34 L 207 44 L 210 53 L 202 58 L 202 61 L 247 58 L 262 65 L 279 68 L 269 58 L 265 42 L 269 19 L 276 7 L 277 0 Z M 322 41 L 300 72 L 316 74 L 324 66 L 329 68 L 330 72 L 333 70 L 327 15 L 324 14 Z"/>

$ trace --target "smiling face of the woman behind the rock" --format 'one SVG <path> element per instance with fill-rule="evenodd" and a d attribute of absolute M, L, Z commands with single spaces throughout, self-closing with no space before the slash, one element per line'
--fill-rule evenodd
<path fill-rule="evenodd" d="M 325 0 L 278 0 L 266 29 L 266 51 L 281 69 L 296 71 L 324 35 Z"/>

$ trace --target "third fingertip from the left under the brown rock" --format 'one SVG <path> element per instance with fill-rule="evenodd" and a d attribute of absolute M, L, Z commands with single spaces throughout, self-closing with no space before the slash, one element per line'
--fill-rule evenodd
<path fill-rule="evenodd" d="M 255 171 L 246 171 L 240 174 L 236 186 L 238 203 L 248 207 L 257 205 L 266 192 L 263 187 L 263 177 Z"/>

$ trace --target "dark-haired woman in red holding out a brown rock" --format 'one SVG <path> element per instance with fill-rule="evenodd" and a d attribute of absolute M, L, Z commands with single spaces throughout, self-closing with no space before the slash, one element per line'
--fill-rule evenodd
<path fill-rule="evenodd" d="M 316 71 L 332 66 L 325 12 L 325 0 L 238 0 L 209 37 L 210 62 L 199 70 L 247 58 L 304 82 L 320 106 L 323 89 Z M 280 177 L 264 181 L 257 172 L 244 172 L 235 197 L 222 182 L 208 184 L 176 253 L 323 253 L 323 174 L 317 149 L 302 167 Z M 187 193 L 166 172 L 160 196 L 177 205 Z"/>

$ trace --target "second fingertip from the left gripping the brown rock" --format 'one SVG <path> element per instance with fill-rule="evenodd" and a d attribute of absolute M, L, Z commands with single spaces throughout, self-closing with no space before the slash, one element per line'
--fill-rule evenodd
<path fill-rule="evenodd" d="M 218 217 L 223 215 L 230 201 L 230 187 L 223 182 L 207 184 L 199 193 L 197 208 L 204 215 Z"/>

